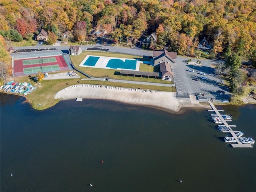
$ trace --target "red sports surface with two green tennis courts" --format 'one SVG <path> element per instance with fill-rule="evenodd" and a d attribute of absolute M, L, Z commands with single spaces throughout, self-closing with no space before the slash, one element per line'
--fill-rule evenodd
<path fill-rule="evenodd" d="M 25 76 L 40 72 L 70 70 L 62 55 L 14 59 L 13 76 Z"/>

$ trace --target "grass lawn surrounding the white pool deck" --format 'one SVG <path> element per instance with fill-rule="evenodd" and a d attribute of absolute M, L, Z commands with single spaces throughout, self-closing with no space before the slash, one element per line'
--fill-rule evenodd
<path fill-rule="evenodd" d="M 82 52 L 79 56 L 70 56 L 74 66 L 81 70 L 82 72 L 88 74 L 92 77 L 108 77 L 112 79 L 129 80 L 129 81 L 142 81 L 142 82 L 153 82 L 153 83 L 163 83 L 172 84 L 170 81 L 163 81 L 162 79 L 146 78 L 146 77 L 134 77 L 127 75 L 120 75 L 120 70 L 112 69 L 100 69 L 100 68 L 89 68 L 89 67 L 79 67 L 79 64 L 84 60 L 87 55 L 93 56 L 106 56 L 106 57 L 117 57 L 117 58 L 128 58 L 128 59 L 139 59 L 141 61 L 149 61 L 149 58 L 143 58 L 140 56 L 112 53 L 112 52 Z M 160 72 L 159 67 L 153 67 L 149 64 L 140 64 L 140 71 L 144 72 Z"/>

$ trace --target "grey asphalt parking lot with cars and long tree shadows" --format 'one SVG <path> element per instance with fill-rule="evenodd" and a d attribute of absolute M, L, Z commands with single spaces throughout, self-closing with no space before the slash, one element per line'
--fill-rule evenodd
<path fill-rule="evenodd" d="M 177 57 L 172 70 L 179 97 L 194 94 L 199 99 L 212 98 L 221 101 L 230 99 L 228 88 L 219 85 L 220 80 L 216 76 L 214 68 L 210 65 L 216 63 L 216 61 L 201 60 L 201 66 L 196 66 L 188 64 L 187 60 L 188 58 Z M 200 72 L 202 73 L 200 74 Z"/>

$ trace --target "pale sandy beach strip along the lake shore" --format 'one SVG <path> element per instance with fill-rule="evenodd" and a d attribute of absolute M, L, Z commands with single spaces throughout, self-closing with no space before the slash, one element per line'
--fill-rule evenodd
<path fill-rule="evenodd" d="M 110 86 L 96 86 L 78 84 L 60 90 L 55 99 L 69 100 L 76 98 L 115 100 L 124 103 L 154 106 L 166 110 L 178 111 L 181 107 L 198 107 L 189 99 L 177 99 L 173 92 L 160 92 L 131 88 L 116 88 Z M 200 107 L 203 107 L 200 105 Z"/>

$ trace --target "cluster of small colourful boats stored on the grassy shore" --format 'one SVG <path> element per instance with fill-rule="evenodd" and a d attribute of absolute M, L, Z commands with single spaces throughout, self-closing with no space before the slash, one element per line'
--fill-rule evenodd
<path fill-rule="evenodd" d="M 31 89 L 33 90 L 33 86 L 27 82 L 20 83 L 20 82 L 10 81 L 4 84 L 4 86 L 2 86 L 2 90 L 5 91 L 6 93 L 12 92 L 12 93 L 24 94 L 24 95 L 28 90 L 31 90 Z"/>

